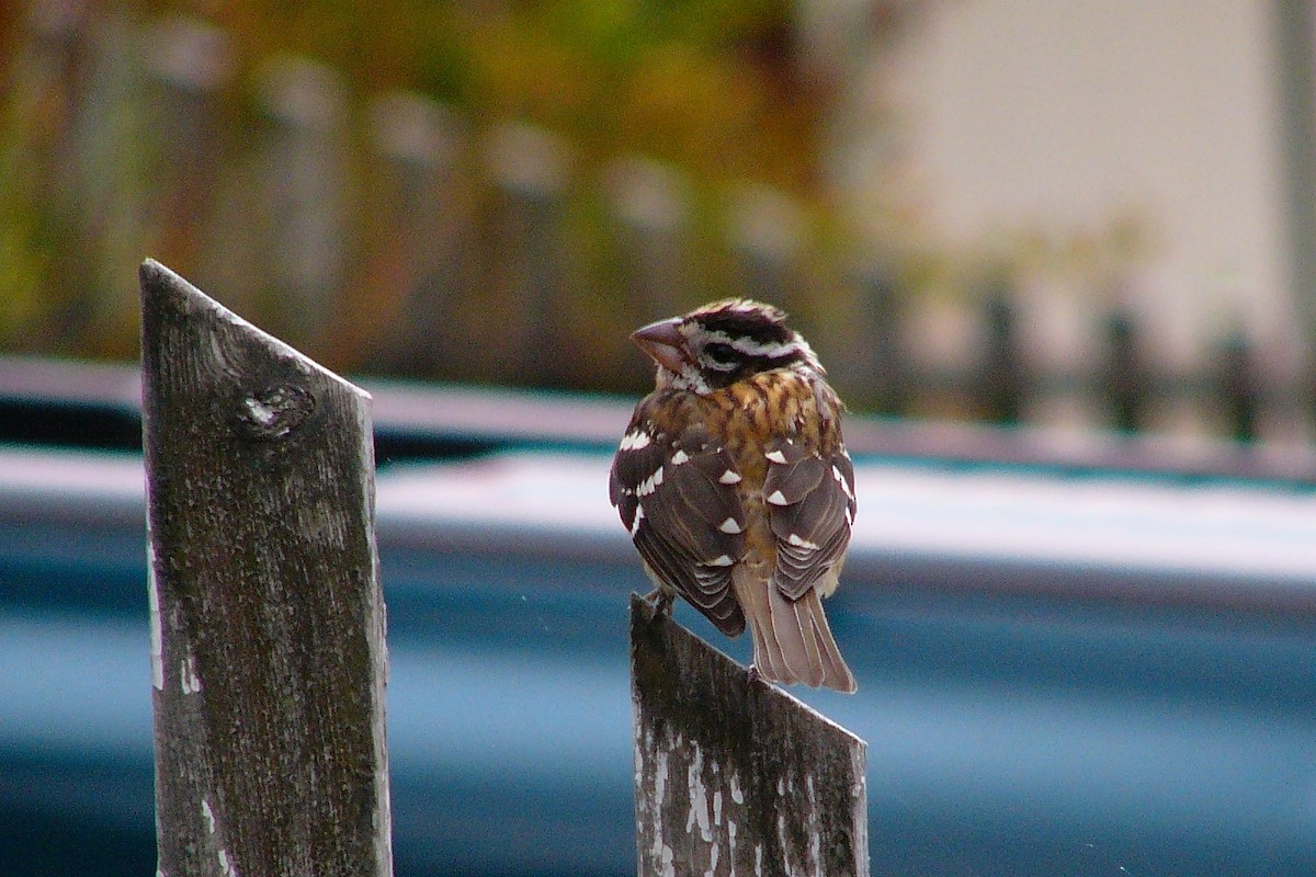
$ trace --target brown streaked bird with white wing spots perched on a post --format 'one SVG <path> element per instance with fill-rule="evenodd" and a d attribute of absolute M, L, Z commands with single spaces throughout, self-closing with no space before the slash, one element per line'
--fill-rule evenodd
<path fill-rule="evenodd" d="M 613 456 L 608 496 L 670 614 L 679 594 L 728 636 L 746 623 L 750 672 L 853 693 L 821 598 L 854 526 L 844 404 L 787 314 L 725 298 L 630 338 L 653 359 Z"/>

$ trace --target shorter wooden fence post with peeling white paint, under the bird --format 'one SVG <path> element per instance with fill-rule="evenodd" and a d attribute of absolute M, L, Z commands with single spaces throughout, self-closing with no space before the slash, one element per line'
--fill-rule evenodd
<path fill-rule="evenodd" d="M 630 600 L 640 877 L 869 873 L 865 743 Z"/>

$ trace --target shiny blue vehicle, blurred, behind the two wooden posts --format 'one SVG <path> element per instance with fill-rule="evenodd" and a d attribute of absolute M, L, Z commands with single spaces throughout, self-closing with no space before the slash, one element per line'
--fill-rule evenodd
<path fill-rule="evenodd" d="M 134 381 L 0 368 L 4 874 L 154 868 Z M 366 385 L 397 873 L 634 873 L 629 402 Z M 859 692 L 792 689 L 869 743 L 873 873 L 1316 873 L 1312 469 L 920 429 L 854 421 Z"/>

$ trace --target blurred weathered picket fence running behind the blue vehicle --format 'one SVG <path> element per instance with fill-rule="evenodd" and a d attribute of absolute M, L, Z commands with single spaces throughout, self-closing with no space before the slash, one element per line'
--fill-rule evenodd
<path fill-rule="evenodd" d="M 751 295 L 795 312 L 858 410 L 1311 443 L 1303 351 L 1228 323 L 1171 350 L 1109 277 L 1063 293 L 983 270 L 929 295 L 915 256 L 845 245 L 782 192 L 357 93 L 307 58 L 238 75 L 211 25 L 107 16 L 29 24 L 8 67 L 20 114 L 49 117 L 14 135 L 8 202 L 61 239 L 0 326 L 16 352 L 130 356 L 122 279 L 153 252 L 340 371 L 629 393 L 632 327 Z"/>

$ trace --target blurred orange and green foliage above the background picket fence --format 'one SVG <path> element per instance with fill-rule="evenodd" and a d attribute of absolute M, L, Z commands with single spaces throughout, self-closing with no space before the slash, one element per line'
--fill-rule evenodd
<path fill-rule="evenodd" d="M 155 16 L 190 4 L 151 3 Z M 417 89 L 484 118 L 640 151 L 709 178 L 808 184 L 822 109 L 792 67 L 786 0 L 224 3 L 243 64 L 321 60 L 359 95 Z"/>

